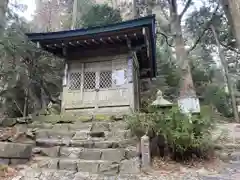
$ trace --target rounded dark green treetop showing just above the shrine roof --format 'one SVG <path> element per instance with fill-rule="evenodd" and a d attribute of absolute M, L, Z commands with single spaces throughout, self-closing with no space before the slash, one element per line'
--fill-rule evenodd
<path fill-rule="evenodd" d="M 83 27 L 102 26 L 122 21 L 120 12 L 107 4 L 95 4 L 82 16 Z"/>

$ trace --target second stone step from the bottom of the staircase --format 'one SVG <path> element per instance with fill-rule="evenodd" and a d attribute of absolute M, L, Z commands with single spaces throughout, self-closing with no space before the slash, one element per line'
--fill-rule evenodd
<path fill-rule="evenodd" d="M 88 149 L 79 147 L 35 147 L 33 154 L 47 157 L 63 157 L 70 159 L 85 160 L 108 160 L 120 162 L 124 159 L 131 159 L 138 156 L 136 147 L 128 147 L 123 149 Z"/>

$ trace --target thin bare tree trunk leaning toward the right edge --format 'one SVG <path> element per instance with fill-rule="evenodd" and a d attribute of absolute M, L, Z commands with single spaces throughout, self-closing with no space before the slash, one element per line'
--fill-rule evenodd
<path fill-rule="evenodd" d="M 234 118 L 235 118 L 236 122 L 239 122 L 239 115 L 238 115 L 236 97 L 234 95 L 233 86 L 232 86 L 232 83 L 231 83 L 231 80 L 230 80 L 230 76 L 229 76 L 229 73 L 228 73 L 228 66 L 227 66 L 227 63 L 225 61 L 225 57 L 224 57 L 224 54 L 222 52 L 222 48 L 221 48 L 221 45 L 220 45 L 220 42 L 219 42 L 216 30 L 215 30 L 215 27 L 213 25 L 211 25 L 211 29 L 212 29 L 214 38 L 216 40 L 216 44 L 217 44 L 217 47 L 218 47 L 220 60 L 221 60 L 222 66 L 224 68 L 224 75 L 226 77 L 228 91 L 229 91 L 229 94 L 230 94 L 231 100 L 232 100 L 232 108 L 233 108 Z"/>

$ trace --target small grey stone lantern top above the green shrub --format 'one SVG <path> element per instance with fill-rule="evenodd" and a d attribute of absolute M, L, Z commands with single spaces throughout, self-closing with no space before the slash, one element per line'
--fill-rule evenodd
<path fill-rule="evenodd" d="M 173 103 L 169 102 L 168 100 L 163 98 L 163 94 L 161 90 L 158 90 L 157 92 L 157 98 L 153 103 L 151 104 L 152 107 L 161 109 L 161 110 L 168 110 L 173 107 Z"/>

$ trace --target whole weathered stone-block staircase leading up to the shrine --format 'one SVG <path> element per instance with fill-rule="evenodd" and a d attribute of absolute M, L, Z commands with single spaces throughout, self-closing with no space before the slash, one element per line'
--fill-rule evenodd
<path fill-rule="evenodd" d="M 34 123 L 28 127 L 36 145 L 31 172 L 71 172 L 84 177 L 140 173 L 136 142 L 124 121 Z"/>

